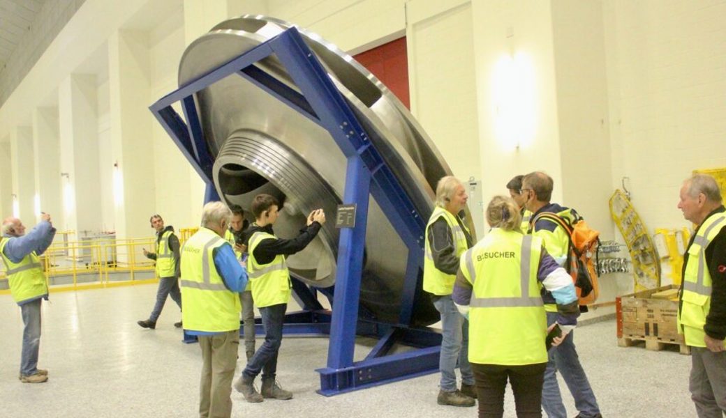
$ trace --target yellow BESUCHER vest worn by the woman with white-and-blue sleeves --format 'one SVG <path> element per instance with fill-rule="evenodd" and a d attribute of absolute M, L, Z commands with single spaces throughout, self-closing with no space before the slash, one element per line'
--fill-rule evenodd
<path fill-rule="evenodd" d="M 547 362 L 547 317 L 537 282 L 541 254 L 541 239 L 494 228 L 462 255 L 462 273 L 473 286 L 470 362 Z"/>

